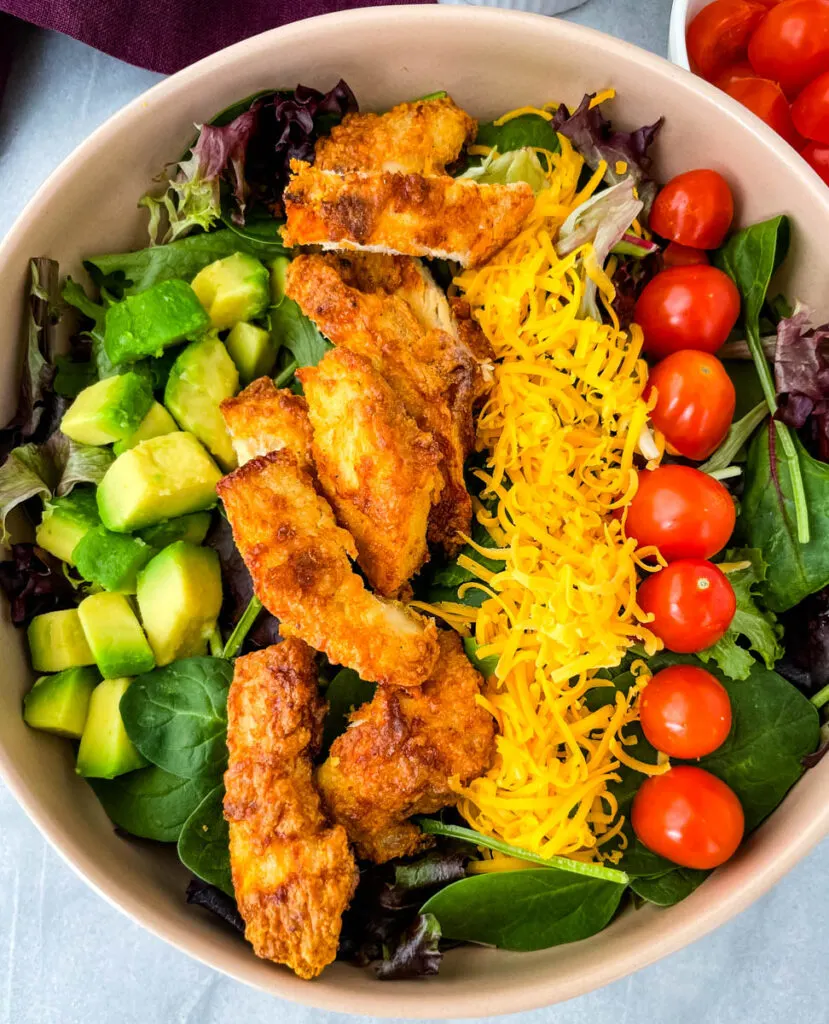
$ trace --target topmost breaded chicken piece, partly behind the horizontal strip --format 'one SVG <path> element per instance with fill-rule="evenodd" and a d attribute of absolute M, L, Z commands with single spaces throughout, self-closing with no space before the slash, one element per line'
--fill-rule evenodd
<path fill-rule="evenodd" d="M 478 123 L 452 99 L 417 99 L 386 114 L 347 114 L 316 143 L 323 171 L 442 174 L 475 138 Z"/>

